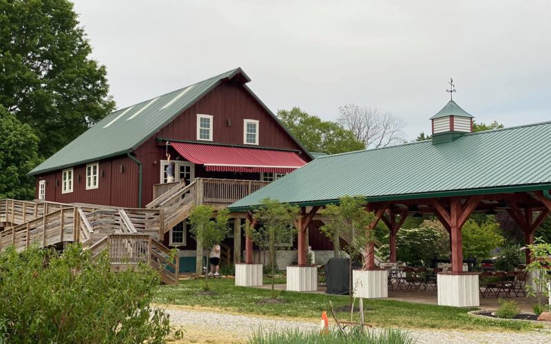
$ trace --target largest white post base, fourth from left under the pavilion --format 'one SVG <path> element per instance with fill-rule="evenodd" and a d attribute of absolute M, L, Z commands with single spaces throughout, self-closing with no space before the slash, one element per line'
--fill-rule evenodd
<path fill-rule="evenodd" d="M 438 274 L 438 304 L 455 307 L 480 305 L 477 274 Z"/>

